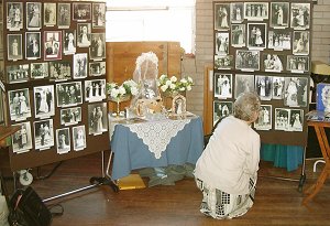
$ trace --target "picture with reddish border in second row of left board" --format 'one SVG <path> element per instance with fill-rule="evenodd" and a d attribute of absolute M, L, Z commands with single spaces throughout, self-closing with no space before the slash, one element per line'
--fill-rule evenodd
<path fill-rule="evenodd" d="M 62 60 L 62 31 L 44 31 L 44 61 Z"/>

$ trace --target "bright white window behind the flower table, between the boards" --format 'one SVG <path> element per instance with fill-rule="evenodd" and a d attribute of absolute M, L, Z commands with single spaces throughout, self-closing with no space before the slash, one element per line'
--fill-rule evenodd
<path fill-rule="evenodd" d="M 108 0 L 108 42 L 172 41 L 195 53 L 195 0 Z"/>

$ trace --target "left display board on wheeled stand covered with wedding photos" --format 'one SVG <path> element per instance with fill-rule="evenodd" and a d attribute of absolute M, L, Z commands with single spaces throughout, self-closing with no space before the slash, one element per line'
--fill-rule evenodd
<path fill-rule="evenodd" d="M 12 171 L 109 150 L 103 1 L 2 1 Z"/>

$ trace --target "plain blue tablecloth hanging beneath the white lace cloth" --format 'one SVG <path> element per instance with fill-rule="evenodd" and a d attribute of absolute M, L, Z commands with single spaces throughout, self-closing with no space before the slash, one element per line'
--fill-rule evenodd
<path fill-rule="evenodd" d="M 111 176 L 118 180 L 129 175 L 132 170 L 142 168 L 195 164 L 202 150 L 204 130 L 200 117 L 191 118 L 190 122 L 170 139 L 160 159 L 155 158 L 130 128 L 117 125 L 111 139 L 111 151 L 114 154 Z"/>

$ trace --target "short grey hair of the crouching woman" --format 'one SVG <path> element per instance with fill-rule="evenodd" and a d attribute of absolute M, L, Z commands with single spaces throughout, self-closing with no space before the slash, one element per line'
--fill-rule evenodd
<path fill-rule="evenodd" d="M 255 112 L 260 111 L 260 97 L 255 93 L 243 93 L 234 103 L 234 117 L 244 121 L 251 121 Z"/>

